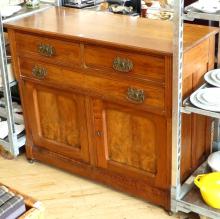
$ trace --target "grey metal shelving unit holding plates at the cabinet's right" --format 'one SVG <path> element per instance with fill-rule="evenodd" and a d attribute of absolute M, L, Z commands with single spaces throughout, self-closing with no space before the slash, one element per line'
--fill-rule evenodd
<path fill-rule="evenodd" d="M 220 12 L 207 14 L 188 6 L 184 10 L 184 0 L 174 1 L 174 36 L 173 36 L 173 112 L 172 112 L 172 188 L 171 211 L 195 212 L 200 218 L 220 218 L 220 210 L 207 206 L 201 198 L 200 192 L 194 186 L 196 175 L 207 172 L 207 163 L 203 163 L 183 184 L 180 182 L 181 167 L 181 114 L 196 113 L 212 117 L 216 120 L 216 144 L 219 144 L 220 113 L 199 109 L 193 106 L 189 98 L 182 101 L 182 73 L 183 73 L 183 22 L 184 20 L 202 19 L 218 21 L 220 26 Z M 220 35 L 220 34 L 219 34 Z M 218 67 L 220 67 L 220 36 L 218 38 Z M 208 86 L 204 84 L 200 89 Z"/>

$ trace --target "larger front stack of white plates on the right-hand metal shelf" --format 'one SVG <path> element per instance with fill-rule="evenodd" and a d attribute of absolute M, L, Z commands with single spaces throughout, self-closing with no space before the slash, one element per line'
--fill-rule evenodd
<path fill-rule="evenodd" d="M 190 101 L 201 109 L 220 112 L 220 88 L 198 90 L 190 96 Z"/>

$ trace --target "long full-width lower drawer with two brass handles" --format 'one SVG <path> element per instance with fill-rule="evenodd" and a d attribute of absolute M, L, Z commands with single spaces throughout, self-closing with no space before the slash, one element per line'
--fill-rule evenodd
<path fill-rule="evenodd" d="M 74 89 L 85 95 L 98 96 L 159 114 L 165 113 L 165 89 L 161 86 L 101 78 L 57 65 L 36 63 L 30 59 L 21 59 L 20 66 L 23 77 L 39 80 L 45 85 Z"/>

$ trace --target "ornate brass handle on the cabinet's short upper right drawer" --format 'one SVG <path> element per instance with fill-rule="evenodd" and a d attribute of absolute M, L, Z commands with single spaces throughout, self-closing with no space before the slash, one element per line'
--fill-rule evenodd
<path fill-rule="evenodd" d="M 127 58 L 116 57 L 113 60 L 112 67 L 116 71 L 129 72 L 133 69 L 133 62 Z"/>

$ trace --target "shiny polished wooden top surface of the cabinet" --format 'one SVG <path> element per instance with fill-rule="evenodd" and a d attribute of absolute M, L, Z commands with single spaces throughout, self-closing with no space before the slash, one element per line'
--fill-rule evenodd
<path fill-rule="evenodd" d="M 67 39 L 116 45 L 172 54 L 173 25 L 169 21 L 150 20 L 106 12 L 53 7 L 32 16 L 9 22 L 7 28 L 62 36 Z M 184 49 L 217 33 L 217 28 L 185 24 Z"/>

